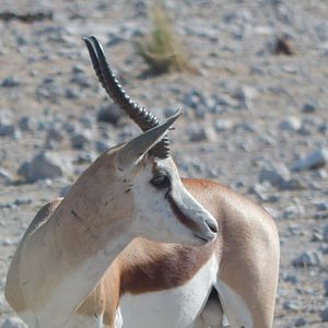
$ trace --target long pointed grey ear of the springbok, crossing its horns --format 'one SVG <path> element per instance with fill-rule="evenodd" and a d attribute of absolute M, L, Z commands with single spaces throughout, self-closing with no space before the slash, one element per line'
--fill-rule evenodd
<path fill-rule="evenodd" d="M 154 127 L 147 132 L 128 141 L 117 154 L 119 169 L 127 169 L 136 165 L 142 156 L 156 144 L 181 115 L 181 110 L 171 116 L 164 124 Z"/>

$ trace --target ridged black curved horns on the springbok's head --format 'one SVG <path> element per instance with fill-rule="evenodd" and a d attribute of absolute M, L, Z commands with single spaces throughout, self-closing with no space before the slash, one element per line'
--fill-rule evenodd
<path fill-rule="evenodd" d="M 107 63 L 102 45 L 98 43 L 96 37 L 85 36 L 83 37 L 83 40 L 86 44 L 97 78 L 110 98 L 133 119 L 142 131 L 147 131 L 159 126 L 161 121 L 151 112 L 132 101 L 118 83 L 115 74 Z M 169 155 L 168 138 L 164 137 L 162 141 L 150 150 L 149 153 L 153 156 L 166 159 Z"/>

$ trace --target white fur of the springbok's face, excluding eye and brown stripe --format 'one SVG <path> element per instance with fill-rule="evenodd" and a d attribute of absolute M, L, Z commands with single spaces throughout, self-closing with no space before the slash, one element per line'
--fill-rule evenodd
<path fill-rule="evenodd" d="M 167 175 L 168 188 L 156 188 L 150 180 L 154 177 L 151 159 L 139 173 L 131 191 L 136 199 L 136 235 L 164 243 L 203 245 L 215 237 L 208 224 L 218 226 L 215 219 L 186 190 L 171 157 L 156 162 L 157 172 Z M 177 219 L 172 198 L 191 227 Z M 198 237 L 197 237 L 198 236 Z M 200 239 L 201 237 L 202 239 Z"/>

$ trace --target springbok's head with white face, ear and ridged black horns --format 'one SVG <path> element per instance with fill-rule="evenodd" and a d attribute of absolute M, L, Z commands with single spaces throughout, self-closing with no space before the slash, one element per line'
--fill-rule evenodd
<path fill-rule="evenodd" d="M 106 154 L 114 161 L 112 167 L 115 167 L 115 179 L 122 185 L 118 188 L 124 190 L 122 199 L 129 195 L 133 202 L 129 223 L 131 234 L 186 245 L 203 245 L 213 241 L 218 233 L 216 220 L 184 187 L 171 156 L 166 133 L 180 112 L 161 124 L 126 94 L 97 39 L 93 36 L 83 39 L 99 82 L 143 130 L 139 137 Z"/>

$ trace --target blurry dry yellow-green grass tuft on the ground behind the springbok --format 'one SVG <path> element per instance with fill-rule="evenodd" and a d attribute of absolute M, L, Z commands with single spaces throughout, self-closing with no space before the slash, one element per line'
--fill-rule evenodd
<path fill-rule="evenodd" d="M 151 4 L 150 19 L 152 30 L 136 42 L 136 48 L 151 72 L 160 74 L 174 70 L 194 70 L 164 5 L 159 1 Z"/>

